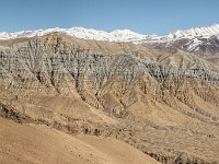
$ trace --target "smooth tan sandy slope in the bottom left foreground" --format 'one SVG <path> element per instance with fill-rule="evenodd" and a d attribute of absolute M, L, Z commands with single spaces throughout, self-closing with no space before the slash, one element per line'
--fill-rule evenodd
<path fill-rule="evenodd" d="M 1 164 L 155 164 L 126 143 L 0 118 Z"/>

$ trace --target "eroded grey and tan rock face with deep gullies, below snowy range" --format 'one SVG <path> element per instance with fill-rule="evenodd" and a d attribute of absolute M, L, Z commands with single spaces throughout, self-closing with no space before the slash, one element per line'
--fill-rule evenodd
<path fill-rule="evenodd" d="M 219 163 L 219 65 L 53 33 L 4 40 L 0 115 L 111 137 L 161 163 Z"/>

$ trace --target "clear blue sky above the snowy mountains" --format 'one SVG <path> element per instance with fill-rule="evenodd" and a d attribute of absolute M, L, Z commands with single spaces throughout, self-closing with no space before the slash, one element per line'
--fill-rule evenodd
<path fill-rule="evenodd" d="M 219 23 L 219 0 L 0 0 L 0 32 L 83 26 L 142 34 Z"/>

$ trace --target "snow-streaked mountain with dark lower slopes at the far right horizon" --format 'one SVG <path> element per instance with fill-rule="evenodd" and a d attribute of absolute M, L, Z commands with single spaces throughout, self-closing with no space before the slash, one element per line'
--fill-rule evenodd
<path fill-rule="evenodd" d="M 178 48 L 201 56 L 218 56 L 219 24 L 207 27 L 193 27 L 185 31 L 178 30 L 140 43 L 153 47 Z"/>

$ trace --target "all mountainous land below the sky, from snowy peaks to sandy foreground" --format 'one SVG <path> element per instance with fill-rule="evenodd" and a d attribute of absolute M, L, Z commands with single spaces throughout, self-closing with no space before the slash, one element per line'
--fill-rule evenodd
<path fill-rule="evenodd" d="M 219 163 L 217 30 L 1 33 L 0 163 Z"/>

